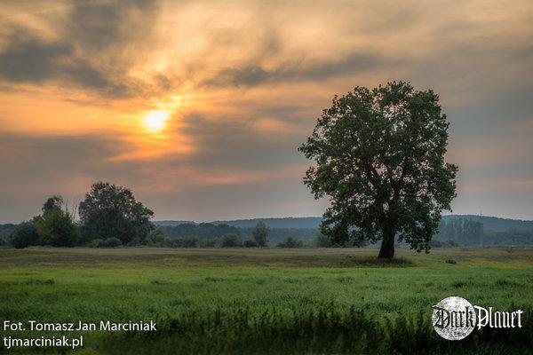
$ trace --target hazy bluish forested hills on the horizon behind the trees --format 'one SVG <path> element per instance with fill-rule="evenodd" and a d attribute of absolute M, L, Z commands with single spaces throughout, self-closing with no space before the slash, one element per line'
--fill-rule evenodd
<path fill-rule="evenodd" d="M 220 245 L 227 235 L 235 236 L 236 245 L 242 245 L 253 238 L 252 234 L 258 223 L 267 225 L 270 246 L 280 245 L 291 238 L 301 241 L 303 245 L 330 247 L 331 245 L 319 235 L 320 222 L 320 217 L 285 217 L 211 223 L 155 221 L 154 225 L 164 238 L 176 241 L 171 245 L 178 247 Z M 0 225 L 0 246 L 10 244 L 10 236 L 16 228 L 15 224 Z M 196 242 L 191 243 L 194 240 Z M 434 248 L 459 245 L 533 245 L 533 221 L 474 215 L 444 216 L 439 225 L 439 233 L 434 236 L 432 244 Z"/>

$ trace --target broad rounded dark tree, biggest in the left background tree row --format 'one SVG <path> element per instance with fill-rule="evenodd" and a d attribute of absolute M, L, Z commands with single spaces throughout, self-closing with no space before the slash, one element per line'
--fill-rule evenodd
<path fill-rule="evenodd" d="M 116 237 L 123 244 L 144 241 L 154 229 L 151 209 L 135 200 L 123 186 L 98 182 L 80 202 L 79 214 L 86 239 Z"/>

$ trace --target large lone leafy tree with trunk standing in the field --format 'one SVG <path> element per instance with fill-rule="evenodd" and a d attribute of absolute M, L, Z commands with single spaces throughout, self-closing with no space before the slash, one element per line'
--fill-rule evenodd
<path fill-rule="evenodd" d="M 316 163 L 305 184 L 332 201 L 322 233 L 334 243 L 382 240 L 381 257 L 394 256 L 396 235 L 428 251 L 456 195 L 457 167 L 444 162 L 448 127 L 434 91 L 410 83 L 336 96 L 299 147 Z"/>

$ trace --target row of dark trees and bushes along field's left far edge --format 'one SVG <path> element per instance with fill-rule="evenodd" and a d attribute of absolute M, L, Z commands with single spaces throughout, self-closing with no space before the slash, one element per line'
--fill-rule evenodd
<path fill-rule="evenodd" d="M 229 225 L 176 225 L 156 228 L 154 212 L 137 201 L 130 189 L 97 182 L 78 206 L 79 220 L 66 208 L 60 195 L 44 201 L 42 213 L 20 225 L 3 225 L 1 244 L 15 248 L 30 246 L 114 248 L 119 246 L 267 247 L 269 229 L 259 222 L 244 240 L 237 228 Z M 213 237 L 215 236 L 215 237 Z M 0 234 L 2 237 L 2 234 Z M 294 239 L 282 246 L 299 246 Z"/>

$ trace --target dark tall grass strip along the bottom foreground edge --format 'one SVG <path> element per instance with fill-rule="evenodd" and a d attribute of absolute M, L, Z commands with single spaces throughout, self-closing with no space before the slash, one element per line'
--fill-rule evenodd
<path fill-rule="evenodd" d="M 533 313 L 525 312 L 525 319 Z M 430 317 L 374 319 L 334 304 L 314 311 L 275 308 L 256 314 L 248 308 L 187 312 L 162 319 L 155 333 L 107 336 L 100 351 L 110 354 L 526 354 L 533 351 L 533 324 L 521 329 L 481 329 L 458 342 L 434 332 Z"/>

